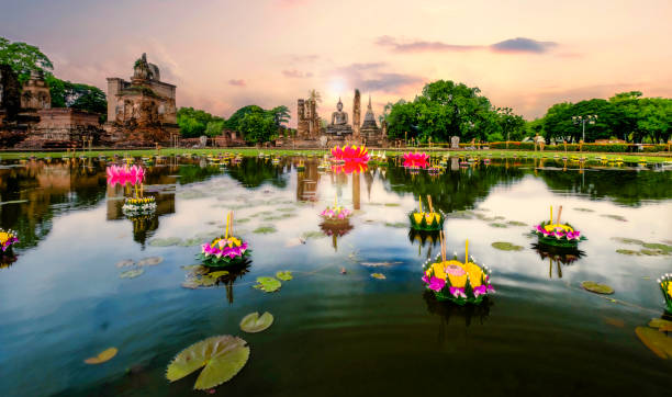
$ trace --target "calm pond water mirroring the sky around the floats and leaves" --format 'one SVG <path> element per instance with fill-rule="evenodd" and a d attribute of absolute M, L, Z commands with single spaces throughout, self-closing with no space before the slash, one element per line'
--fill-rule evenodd
<path fill-rule="evenodd" d="M 617 239 L 672 245 L 669 169 L 497 159 L 430 177 L 393 160 L 355 174 L 320 172 L 316 159 L 298 172 L 299 161 L 158 161 L 145 185 L 157 216 L 137 222 L 121 212 L 124 190 L 107 184 L 110 161 L 4 162 L 0 226 L 21 242 L 0 269 L 0 395 L 201 394 L 197 375 L 170 384 L 166 367 L 216 334 L 240 336 L 251 350 L 216 395 L 670 393 L 672 360 L 635 328 L 663 316 L 654 280 L 672 271 L 672 257 Z M 493 270 L 486 304 L 425 292 L 422 263 L 439 246 L 410 234 L 407 213 L 427 194 L 448 214 L 448 251 L 462 257 L 469 239 L 470 254 Z M 355 215 L 332 232 L 318 213 L 335 197 Z M 550 205 L 589 238 L 579 253 L 548 252 L 528 235 Z M 250 265 L 214 287 L 183 287 L 184 266 L 229 209 Z M 152 257 L 161 262 L 120 266 Z M 121 277 L 133 269 L 143 273 Z M 279 292 L 253 288 L 282 270 L 294 279 Z M 615 294 L 583 291 L 587 280 Z M 240 331 L 253 311 L 270 311 L 272 327 Z M 119 353 L 109 362 L 83 362 L 110 347 Z"/>

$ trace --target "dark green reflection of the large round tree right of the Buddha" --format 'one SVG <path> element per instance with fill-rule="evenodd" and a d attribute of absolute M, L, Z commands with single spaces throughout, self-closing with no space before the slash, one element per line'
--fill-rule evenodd
<path fill-rule="evenodd" d="M 472 168 L 461 172 L 446 172 L 438 177 L 423 171 L 410 175 L 403 168 L 389 167 L 388 189 L 397 193 L 432 196 L 434 206 L 446 213 L 473 207 L 497 184 L 512 184 L 522 179 L 523 170 L 501 167 Z"/>

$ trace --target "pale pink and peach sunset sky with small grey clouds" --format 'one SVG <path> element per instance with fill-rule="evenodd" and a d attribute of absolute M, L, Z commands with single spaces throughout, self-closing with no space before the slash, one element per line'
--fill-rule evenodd
<path fill-rule="evenodd" d="M 38 46 L 61 79 L 105 90 L 142 53 L 178 106 L 228 117 L 292 110 L 310 89 L 377 114 L 448 79 L 526 118 L 557 102 L 672 97 L 670 0 L 0 0 L 0 36 Z"/>

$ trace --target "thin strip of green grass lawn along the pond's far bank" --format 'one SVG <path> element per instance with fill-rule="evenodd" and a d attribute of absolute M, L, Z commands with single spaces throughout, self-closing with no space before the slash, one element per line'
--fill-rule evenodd
<path fill-rule="evenodd" d="M 371 149 L 369 152 L 380 152 L 381 150 Z M 406 152 L 406 151 L 415 151 L 414 148 L 405 148 L 405 149 L 385 149 L 384 152 L 387 156 L 394 156 L 395 154 Z M 560 157 L 567 156 L 568 158 L 572 157 L 586 157 L 589 160 L 595 160 L 596 157 L 607 157 L 609 159 L 616 159 L 620 157 L 624 161 L 627 162 L 637 162 L 639 159 L 647 159 L 648 162 L 671 162 L 672 154 L 670 152 L 657 152 L 657 154 L 614 154 L 614 152 L 578 152 L 578 151 L 534 151 L 534 150 L 447 150 L 447 149 L 432 149 L 426 150 L 424 148 L 418 149 L 418 151 L 428 151 L 432 155 L 444 156 L 449 154 L 450 156 L 472 156 L 478 155 L 480 157 L 492 157 L 492 158 L 501 158 L 501 157 L 546 157 L 552 158 L 555 155 L 559 155 Z M 183 154 L 192 154 L 192 155 L 216 155 L 222 152 L 233 152 L 240 154 L 243 156 L 258 156 L 259 152 L 268 152 L 275 156 L 288 156 L 288 155 L 312 155 L 312 156 L 323 156 L 327 154 L 327 150 L 320 149 L 257 149 L 257 148 L 212 148 L 212 149 L 161 149 L 161 156 L 172 156 L 172 155 L 183 155 Z M 104 155 L 108 157 L 112 157 L 114 155 L 119 156 L 133 156 L 133 157 L 152 157 L 157 154 L 156 149 L 147 149 L 147 150 L 105 150 L 105 149 L 93 149 L 91 151 L 83 150 L 77 151 L 76 154 L 70 154 L 71 156 L 87 156 L 87 157 L 98 157 L 100 155 Z M 65 156 L 65 151 L 21 151 L 21 152 L 1 152 L 0 159 L 2 160 L 12 160 L 12 159 L 24 159 L 34 156 L 35 158 L 60 158 Z"/>

